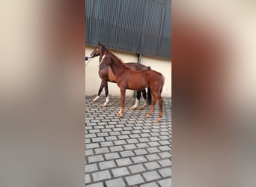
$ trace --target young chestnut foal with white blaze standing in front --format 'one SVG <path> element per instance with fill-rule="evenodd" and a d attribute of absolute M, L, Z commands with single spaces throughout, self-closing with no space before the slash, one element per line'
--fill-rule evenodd
<path fill-rule="evenodd" d="M 159 104 L 159 118 L 157 122 L 162 119 L 162 87 L 165 83 L 165 77 L 161 73 L 154 70 L 131 70 L 127 64 L 124 64 L 119 58 L 117 58 L 111 52 L 105 52 L 102 60 L 100 61 L 100 68 L 110 66 L 113 73 L 117 78 L 117 84 L 121 91 L 121 109 L 118 111 L 118 116 L 124 115 L 124 100 L 125 92 L 130 90 L 142 90 L 149 87 L 151 91 L 152 104 L 146 117 L 152 114 L 153 108 L 156 104 L 156 100 Z"/>

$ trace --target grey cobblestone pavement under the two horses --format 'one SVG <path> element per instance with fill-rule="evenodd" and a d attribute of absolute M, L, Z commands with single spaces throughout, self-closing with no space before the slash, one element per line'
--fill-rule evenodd
<path fill-rule="evenodd" d="M 107 107 L 105 96 L 93 98 L 85 96 L 85 186 L 171 186 L 171 99 L 163 98 L 157 123 L 157 102 L 145 119 L 149 108 L 129 111 L 135 98 L 127 96 L 119 119 L 119 97 L 109 96 Z"/>

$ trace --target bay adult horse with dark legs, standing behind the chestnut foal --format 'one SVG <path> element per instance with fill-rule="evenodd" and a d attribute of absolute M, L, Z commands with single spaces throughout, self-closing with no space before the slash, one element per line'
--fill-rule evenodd
<path fill-rule="evenodd" d="M 91 52 L 90 57 L 94 58 L 96 56 L 100 56 L 100 61 L 101 61 L 101 59 L 103 58 L 104 52 L 109 52 L 109 51 L 108 51 L 108 49 L 106 49 L 105 46 L 103 46 L 103 44 L 98 42 L 98 46 L 96 46 L 94 48 L 94 51 Z M 143 64 L 138 64 L 138 63 L 134 63 L 134 62 L 130 62 L 130 63 L 126 63 L 126 64 L 132 70 L 151 70 L 150 67 L 146 67 Z M 103 88 L 105 88 L 106 102 L 104 102 L 103 106 L 106 106 L 109 102 L 108 82 L 116 83 L 116 77 L 115 77 L 114 73 L 112 72 L 112 69 L 109 66 L 105 67 L 103 69 L 99 68 L 99 76 L 101 78 L 100 89 L 98 91 L 97 96 L 93 99 L 93 102 L 97 101 L 97 99 L 100 98 L 100 93 L 103 91 Z M 143 89 L 142 91 L 137 91 L 135 104 L 129 108 L 130 110 L 133 110 L 138 107 L 138 102 L 139 102 L 139 99 L 141 98 L 141 92 L 142 92 L 142 95 L 144 98 L 144 103 L 143 103 L 143 105 L 141 105 L 140 108 L 143 109 L 144 107 L 147 106 L 147 104 L 148 105 L 151 104 L 150 91 L 147 91 L 147 93 L 146 93 L 146 90 Z"/>

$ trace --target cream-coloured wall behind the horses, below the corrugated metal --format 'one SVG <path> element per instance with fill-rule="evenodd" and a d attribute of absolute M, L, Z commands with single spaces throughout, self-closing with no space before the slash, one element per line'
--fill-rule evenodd
<path fill-rule="evenodd" d="M 89 56 L 94 50 L 94 46 L 86 46 L 85 56 Z M 127 52 L 120 52 L 111 50 L 118 58 L 121 58 L 124 62 L 137 62 L 137 55 Z M 87 63 L 88 61 L 85 61 Z M 95 96 L 100 88 L 100 76 L 98 75 L 99 57 L 92 58 L 88 65 L 85 67 L 85 95 Z M 150 66 L 152 70 L 156 70 L 165 76 L 165 85 L 162 91 L 162 96 L 171 97 L 171 61 L 162 58 L 153 58 L 150 56 L 142 55 L 141 64 Z M 101 93 L 101 96 L 105 96 L 105 91 Z M 109 82 L 109 96 L 120 96 L 120 90 L 118 85 Z M 126 96 L 133 96 L 133 91 L 127 90 Z"/>

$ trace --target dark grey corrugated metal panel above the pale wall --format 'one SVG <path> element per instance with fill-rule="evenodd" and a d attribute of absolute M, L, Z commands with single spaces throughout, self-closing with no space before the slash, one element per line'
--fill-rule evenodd
<path fill-rule="evenodd" d="M 86 43 L 171 58 L 171 0 L 86 0 Z"/>

